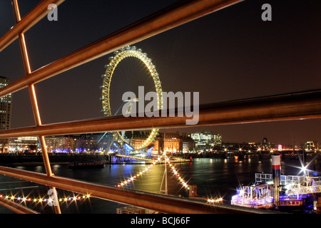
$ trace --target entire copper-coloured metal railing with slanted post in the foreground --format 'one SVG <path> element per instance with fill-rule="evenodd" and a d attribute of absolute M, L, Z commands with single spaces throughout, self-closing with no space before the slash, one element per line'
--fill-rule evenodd
<path fill-rule="evenodd" d="M 66 123 L 53 123 L 43 125 L 36 100 L 35 84 L 58 73 L 68 71 L 93 59 L 105 56 L 108 53 L 128 46 L 158 33 L 175 28 L 188 21 L 198 19 L 213 11 L 238 3 L 242 0 L 197 0 L 180 1 L 178 4 L 163 9 L 156 14 L 148 16 L 126 28 L 112 33 L 100 40 L 79 49 L 36 71 L 30 70 L 28 52 L 24 41 L 24 33 L 36 22 L 49 13 L 49 4 L 59 5 L 63 0 L 43 0 L 23 19 L 20 19 L 19 7 L 16 0 L 11 0 L 16 18 L 16 26 L 0 38 L 0 51 L 19 38 L 21 54 L 24 60 L 26 76 L 14 81 L 0 89 L 0 97 L 29 88 L 31 105 L 34 111 L 35 126 L 0 131 L 0 138 L 16 136 L 39 136 L 41 150 L 46 167 L 46 174 L 27 172 L 9 167 L 0 167 L 1 175 L 8 175 L 41 185 L 57 187 L 62 190 L 87 194 L 101 199 L 113 200 L 138 207 L 153 209 L 166 213 L 272 213 L 265 210 L 235 207 L 231 205 L 209 205 L 194 202 L 188 199 L 179 199 L 164 195 L 134 190 L 121 190 L 116 187 L 94 185 L 78 180 L 56 177 L 51 172 L 50 161 L 46 151 L 45 135 L 63 135 L 73 133 L 101 133 L 116 130 L 136 130 L 151 127 L 172 128 L 188 127 L 185 125 L 186 117 L 160 117 L 160 118 L 96 118 L 91 120 L 78 120 Z M 236 100 L 225 103 L 201 105 L 198 125 L 221 125 L 230 123 L 252 123 L 272 120 L 295 120 L 302 118 L 321 118 L 321 90 L 307 93 L 294 93 L 277 95 L 266 98 Z M 4 201 L 1 201 L 4 202 Z M 153 203 L 151 203 L 153 202 Z M 5 204 L 5 203 L 4 203 Z M 8 206 L 9 207 L 9 206 Z M 28 209 L 16 209 L 16 212 L 28 212 Z M 31 211 L 29 211 L 31 212 Z M 60 209 L 56 208 L 56 213 Z"/>

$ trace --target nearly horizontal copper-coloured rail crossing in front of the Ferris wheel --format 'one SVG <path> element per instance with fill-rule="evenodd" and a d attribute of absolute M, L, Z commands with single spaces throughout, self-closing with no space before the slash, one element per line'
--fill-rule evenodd
<path fill-rule="evenodd" d="M 196 126 L 186 125 L 186 120 L 190 118 L 178 117 L 178 110 L 175 110 L 175 113 L 175 117 L 125 118 L 118 115 L 111 118 L 1 130 L 0 138 Z M 200 105 L 198 118 L 198 126 L 321 118 L 321 90 Z"/>

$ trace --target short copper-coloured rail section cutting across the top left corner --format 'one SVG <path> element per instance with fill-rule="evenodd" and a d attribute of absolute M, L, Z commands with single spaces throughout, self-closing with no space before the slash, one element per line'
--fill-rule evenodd
<path fill-rule="evenodd" d="M 50 9 L 48 9 L 49 4 L 56 4 L 57 6 L 63 3 L 65 0 L 43 0 L 34 9 L 32 9 L 29 14 L 26 14 L 18 24 L 13 26 L 4 36 L 0 38 L 0 51 L 4 50 L 12 42 L 14 42 L 20 33 L 24 33 L 29 30 L 34 24 L 44 18 Z"/>

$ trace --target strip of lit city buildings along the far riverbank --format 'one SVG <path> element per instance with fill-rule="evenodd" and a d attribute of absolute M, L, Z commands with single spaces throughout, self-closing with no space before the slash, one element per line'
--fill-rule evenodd
<path fill-rule="evenodd" d="M 143 134 L 144 135 L 144 134 Z M 129 141 L 135 143 L 140 143 L 143 140 L 141 133 L 136 133 L 130 138 L 126 138 Z M 166 137 L 166 140 L 164 139 Z M 46 137 L 46 145 L 49 152 L 102 152 L 110 147 L 110 143 L 113 140 L 113 135 L 105 133 L 87 133 L 87 134 L 76 134 L 76 135 L 54 135 Z M 192 150 L 220 150 L 220 148 L 226 147 L 253 147 L 253 149 L 263 150 L 262 145 L 269 145 L 273 150 L 294 150 L 305 147 L 309 150 L 314 150 L 315 152 L 320 150 L 321 143 L 319 141 L 305 141 L 305 142 L 294 142 L 293 144 L 285 143 L 275 143 L 269 138 L 263 138 L 260 141 L 254 142 L 235 142 L 223 140 L 223 135 L 220 133 L 205 131 L 205 132 L 193 132 L 193 133 L 162 133 L 160 132 L 155 140 L 148 146 L 148 150 L 152 150 L 153 153 L 158 153 L 161 144 L 164 143 L 176 143 L 175 147 L 180 147 L 180 149 L 166 150 L 171 152 L 180 151 L 192 151 Z M 132 143 L 131 142 L 131 143 Z M 173 145 L 171 145 L 173 147 Z M 188 150 L 185 148 L 189 147 Z M 193 149 L 192 149 L 193 147 Z M 36 151 L 36 148 L 40 149 L 39 138 L 38 137 L 19 137 L 10 138 L 9 147 L 7 150 L 10 152 L 16 151 Z M 126 147 L 129 149 L 130 147 Z M 165 148 L 165 146 L 164 146 Z M 133 148 L 132 148 L 133 149 Z M 246 150 L 246 149 L 244 149 Z M 8 152 L 7 151 L 7 152 Z"/>

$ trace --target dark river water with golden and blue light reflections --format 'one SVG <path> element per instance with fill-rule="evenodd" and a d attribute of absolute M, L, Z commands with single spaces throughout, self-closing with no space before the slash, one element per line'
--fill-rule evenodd
<path fill-rule="evenodd" d="M 307 162 L 305 163 L 307 164 Z M 235 195 L 239 185 L 250 185 L 255 180 L 255 172 L 272 173 L 270 159 L 247 158 L 235 160 L 221 158 L 195 158 L 193 162 L 174 164 L 176 170 L 189 185 L 197 185 L 198 195 L 205 197 L 223 197 L 224 203 L 230 204 L 230 199 Z M 23 170 L 45 173 L 44 166 L 15 166 Z M 300 173 L 299 160 L 282 160 L 281 172 L 285 175 L 302 175 Z M 52 165 L 52 171 L 56 176 L 71 177 L 102 185 L 116 186 L 121 181 L 128 179 L 146 168 L 144 164 L 137 165 L 105 165 L 101 169 L 69 170 L 68 165 Z M 153 165 L 146 174 L 138 177 L 128 188 L 147 192 L 159 192 L 163 178 L 165 165 Z M 310 175 L 320 175 L 320 160 L 310 163 L 308 169 Z M 35 183 L 17 180 L 0 175 L 0 194 L 28 196 L 31 198 L 48 197 L 47 187 Z M 168 194 L 186 196 L 187 192 L 173 172 L 168 169 Z M 73 197 L 72 192 L 58 190 L 58 197 Z M 24 202 L 28 207 L 43 213 L 54 213 L 53 207 L 44 203 Z M 61 212 L 86 213 L 86 214 L 114 214 L 116 208 L 126 205 L 110 202 L 103 199 L 85 198 L 81 200 L 68 200 L 61 202 Z M 9 209 L 0 206 L 0 213 L 11 213 Z"/>

